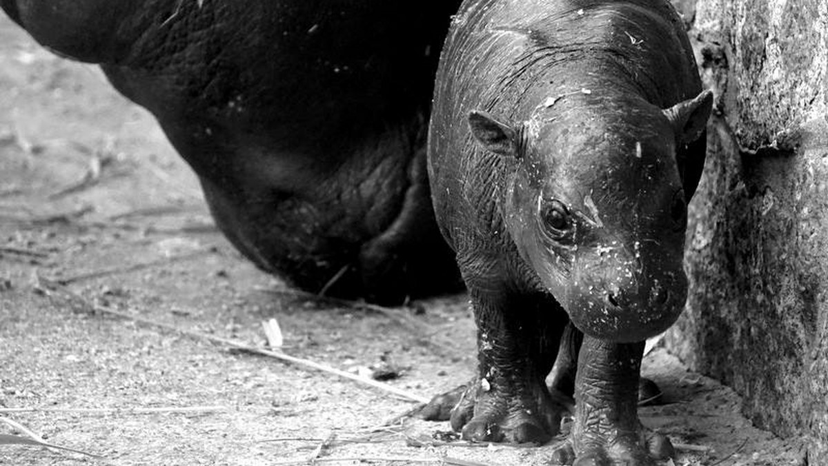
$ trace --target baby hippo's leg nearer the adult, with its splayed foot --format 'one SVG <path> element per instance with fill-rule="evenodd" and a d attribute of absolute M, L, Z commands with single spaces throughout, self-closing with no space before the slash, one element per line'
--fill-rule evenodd
<path fill-rule="evenodd" d="M 566 411 L 546 388 L 566 313 L 546 295 L 470 290 L 478 325 L 478 374 L 421 411 L 450 417 L 465 440 L 543 444 Z"/>

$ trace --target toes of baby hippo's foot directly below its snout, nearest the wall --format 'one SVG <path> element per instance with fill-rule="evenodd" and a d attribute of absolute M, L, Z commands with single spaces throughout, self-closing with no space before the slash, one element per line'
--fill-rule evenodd
<path fill-rule="evenodd" d="M 661 434 L 654 433 L 646 441 L 643 435 L 627 435 L 613 440 L 590 435 L 590 441 L 582 442 L 579 451 L 575 451 L 571 439 L 567 440 L 552 454 L 550 465 L 655 466 L 673 454 L 670 440 Z"/>

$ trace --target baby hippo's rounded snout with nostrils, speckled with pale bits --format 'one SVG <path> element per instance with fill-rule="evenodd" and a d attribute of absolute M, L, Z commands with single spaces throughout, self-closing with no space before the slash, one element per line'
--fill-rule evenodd
<path fill-rule="evenodd" d="M 687 296 L 681 257 L 667 257 L 582 262 L 561 304 L 578 329 L 598 339 L 628 343 L 660 334 L 678 319 Z"/>

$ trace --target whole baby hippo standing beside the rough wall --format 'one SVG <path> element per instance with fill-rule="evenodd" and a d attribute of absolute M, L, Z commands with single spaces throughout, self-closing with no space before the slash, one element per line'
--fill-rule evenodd
<path fill-rule="evenodd" d="M 479 375 L 427 418 L 450 417 L 469 440 L 544 442 L 564 410 L 553 393 L 574 385 L 557 459 L 654 464 L 636 406 L 643 340 L 686 299 L 686 201 L 710 106 L 666 0 L 463 3 L 428 168 L 474 306 Z"/>

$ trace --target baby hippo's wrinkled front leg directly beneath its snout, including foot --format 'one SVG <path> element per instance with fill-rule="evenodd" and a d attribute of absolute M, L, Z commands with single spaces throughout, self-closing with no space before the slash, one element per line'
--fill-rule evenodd
<path fill-rule="evenodd" d="M 666 437 L 648 442 L 638 420 L 642 352 L 643 343 L 585 337 L 575 379 L 575 421 L 552 464 L 654 466 L 672 454 Z"/>

